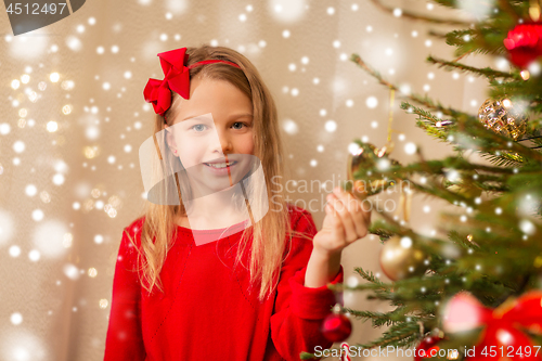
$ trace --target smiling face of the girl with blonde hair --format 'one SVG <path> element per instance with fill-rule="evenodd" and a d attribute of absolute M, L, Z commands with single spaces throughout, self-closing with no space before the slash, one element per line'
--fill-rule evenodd
<path fill-rule="evenodd" d="M 168 144 L 177 151 L 173 155 L 180 158 L 192 185 L 218 192 L 237 183 L 250 169 L 253 104 L 224 80 L 196 76 L 190 88 L 190 99 L 178 100 L 173 125 L 164 127 Z"/>

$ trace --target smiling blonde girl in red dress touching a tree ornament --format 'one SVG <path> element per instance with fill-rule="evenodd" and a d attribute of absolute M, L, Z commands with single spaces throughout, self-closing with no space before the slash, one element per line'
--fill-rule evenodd
<path fill-rule="evenodd" d="M 327 283 L 343 282 L 341 250 L 365 236 L 371 214 L 337 188 L 317 233 L 311 215 L 284 201 L 276 108 L 245 56 L 209 46 L 158 56 L 165 78 L 150 79 L 144 95 L 157 113 L 153 144 L 179 197 L 149 198 L 124 230 L 104 360 L 299 360 L 330 348 L 320 331 L 336 304 Z M 212 134 L 217 142 L 204 141 Z M 263 170 L 263 201 L 272 201 L 256 218 L 259 202 L 246 201 L 250 222 L 240 223 L 228 196 L 203 199 L 234 194 L 244 183 L 234 169 L 250 168 L 235 162 L 250 157 Z M 149 194 L 168 197 L 171 186 L 160 184 Z"/>

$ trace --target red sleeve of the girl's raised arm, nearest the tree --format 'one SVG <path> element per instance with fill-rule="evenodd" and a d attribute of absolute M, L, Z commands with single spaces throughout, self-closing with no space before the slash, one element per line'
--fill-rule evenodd
<path fill-rule="evenodd" d="M 311 237 L 317 227 L 310 212 L 304 210 L 293 229 L 305 232 Z M 312 253 L 312 241 L 293 237 L 292 250 L 284 261 L 278 285 L 274 313 L 271 315 L 271 338 L 279 353 L 286 360 L 299 360 L 300 352 L 314 352 L 317 346 L 330 348 L 320 331 L 323 319 L 332 312 L 336 299 L 327 285 L 312 288 L 305 287 L 305 273 Z M 343 266 L 330 282 L 343 282 Z"/>

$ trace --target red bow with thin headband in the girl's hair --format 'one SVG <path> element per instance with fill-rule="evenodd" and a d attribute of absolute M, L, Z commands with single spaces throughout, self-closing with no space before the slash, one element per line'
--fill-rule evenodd
<path fill-rule="evenodd" d="M 211 63 L 227 63 L 241 68 L 237 64 L 222 60 L 208 60 L 185 66 L 184 64 L 189 60 L 186 48 L 158 53 L 158 56 L 165 77 L 163 80 L 150 78 L 143 90 L 143 95 L 147 103 L 153 104 L 154 112 L 162 116 L 171 106 L 171 90 L 184 99 L 190 98 L 189 70 L 191 68 Z"/>

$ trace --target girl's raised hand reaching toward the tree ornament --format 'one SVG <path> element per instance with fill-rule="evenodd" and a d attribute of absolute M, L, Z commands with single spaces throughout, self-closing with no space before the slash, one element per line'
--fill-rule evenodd
<path fill-rule="evenodd" d="M 367 234 L 371 223 L 371 204 L 362 203 L 339 186 L 327 195 L 322 230 L 314 235 L 314 250 L 339 254 L 343 248 Z"/>

